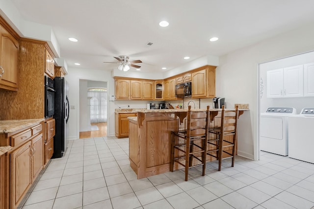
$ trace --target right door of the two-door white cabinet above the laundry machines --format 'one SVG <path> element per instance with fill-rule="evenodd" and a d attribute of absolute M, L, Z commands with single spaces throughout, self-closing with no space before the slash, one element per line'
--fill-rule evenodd
<path fill-rule="evenodd" d="M 284 68 L 284 97 L 303 96 L 303 65 Z"/>

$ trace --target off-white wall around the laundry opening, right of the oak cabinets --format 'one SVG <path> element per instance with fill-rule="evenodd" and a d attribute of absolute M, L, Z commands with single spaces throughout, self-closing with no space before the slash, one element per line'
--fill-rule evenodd
<path fill-rule="evenodd" d="M 250 111 L 240 116 L 242 121 L 249 122 L 238 132 L 239 155 L 254 156 L 258 160 L 259 63 L 314 50 L 313 37 L 313 25 L 305 25 L 219 57 L 216 94 L 226 97 L 230 103 L 250 106 Z"/>

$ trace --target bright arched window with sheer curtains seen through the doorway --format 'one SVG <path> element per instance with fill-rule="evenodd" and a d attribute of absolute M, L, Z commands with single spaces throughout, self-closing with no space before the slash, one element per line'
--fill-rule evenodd
<path fill-rule="evenodd" d="M 107 122 L 107 90 L 105 88 L 90 88 L 87 96 L 90 99 L 90 122 Z"/>

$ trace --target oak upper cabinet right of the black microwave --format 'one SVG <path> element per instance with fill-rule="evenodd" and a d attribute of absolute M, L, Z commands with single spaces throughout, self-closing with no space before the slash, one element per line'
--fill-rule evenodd
<path fill-rule="evenodd" d="M 192 98 L 211 98 L 215 96 L 214 66 L 205 66 L 192 72 Z"/>

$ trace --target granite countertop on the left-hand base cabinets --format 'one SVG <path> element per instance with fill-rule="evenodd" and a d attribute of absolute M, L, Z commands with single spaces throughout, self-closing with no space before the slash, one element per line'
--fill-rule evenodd
<path fill-rule="evenodd" d="M 34 123 L 43 121 L 43 118 L 38 119 L 19 119 L 19 120 L 0 120 L 0 134 L 11 133 L 22 128 L 30 126 Z"/>

